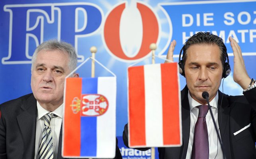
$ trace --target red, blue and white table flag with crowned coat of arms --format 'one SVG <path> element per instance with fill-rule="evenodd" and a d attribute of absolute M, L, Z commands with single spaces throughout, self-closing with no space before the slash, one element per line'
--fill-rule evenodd
<path fill-rule="evenodd" d="M 114 158 L 116 77 L 67 78 L 62 156 Z"/>

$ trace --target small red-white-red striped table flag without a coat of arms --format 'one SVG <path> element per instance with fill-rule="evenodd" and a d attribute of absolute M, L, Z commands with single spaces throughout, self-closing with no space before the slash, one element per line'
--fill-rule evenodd
<path fill-rule="evenodd" d="M 130 147 L 181 146 L 178 68 L 177 63 L 128 68 Z"/>

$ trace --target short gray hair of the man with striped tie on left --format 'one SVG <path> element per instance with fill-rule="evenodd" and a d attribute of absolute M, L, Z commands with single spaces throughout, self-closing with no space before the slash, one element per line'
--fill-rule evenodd
<path fill-rule="evenodd" d="M 57 41 L 56 39 L 52 39 L 49 41 L 45 41 L 41 43 L 36 49 L 32 56 L 32 65 L 31 70 L 33 68 L 33 64 L 37 58 L 37 54 L 41 50 L 60 50 L 69 55 L 69 70 L 72 72 L 77 67 L 77 53 L 75 48 L 64 41 Z"/>

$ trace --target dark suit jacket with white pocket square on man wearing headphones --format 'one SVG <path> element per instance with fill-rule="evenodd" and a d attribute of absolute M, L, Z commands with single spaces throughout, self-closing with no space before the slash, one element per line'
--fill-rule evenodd
<path fill-rule="evenodd" d="M 185 159 L 189 142 L 190 109 L 187 86 L 181 91 L 181 114 L 183 145 L 181 147 L 159 147 L 160 159 Z M 256 159 L 256 88 L 246 91 L 244 96 L 228 96 L 219 91 L 218 120 L 227 159 Z M 249 128 L 234 136 L 248 124 Z M 124 127 L 123 140 L 128 147 L 128 128 Z M 140 150 L 147 150 L 141 148 Z"/>

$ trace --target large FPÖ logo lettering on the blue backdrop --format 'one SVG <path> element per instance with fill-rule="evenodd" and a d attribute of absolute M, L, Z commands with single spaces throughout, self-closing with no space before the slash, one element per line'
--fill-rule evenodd
<path fill-rule="evenodd" d="M 84 60 L 80 50 L 92 45 L 88 41 L 94 45 L 103 43 L 111 56 L 124 62 L 149 55 L 151 43 L 156 43 L 160 50 L 167 49 L 172 26 L 165 11 L 161 7 L 155 9 L 158 2 L 150 2 L 154 9 L 136 0 L 108 3 L 110 7 L 89 2 L 4 5 L 3 19 L 9 19 L 9 23 L 2 28 L 9 31 L 9 40 L 2 45 L 8 50 L 2 64 L 30 64 L 35 48 L 53 38 L 74 45 L 78 62 Z M 8 37 L 8 32 L 4 34 Z"/>

